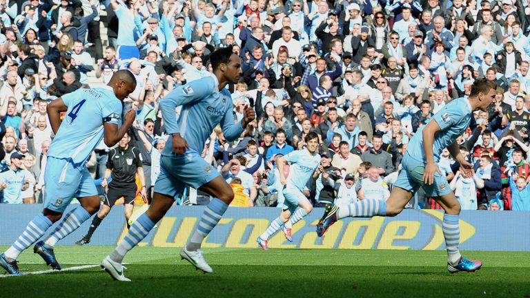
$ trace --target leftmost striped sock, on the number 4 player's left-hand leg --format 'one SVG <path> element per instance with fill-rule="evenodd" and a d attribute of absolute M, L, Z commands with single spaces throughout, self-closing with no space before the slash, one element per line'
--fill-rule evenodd
<path fill-rule="evenodd" d="M 52 226 L 52 221 L 44 215 L 37 215 L 26 227 L 26 230 L 19 236 L 17 241 L 6 250 L 6 259 L 13 261 L 17 259 L 23 250 L 30 247 L 35 241 L 39 240 L 42 235 Z"/>

